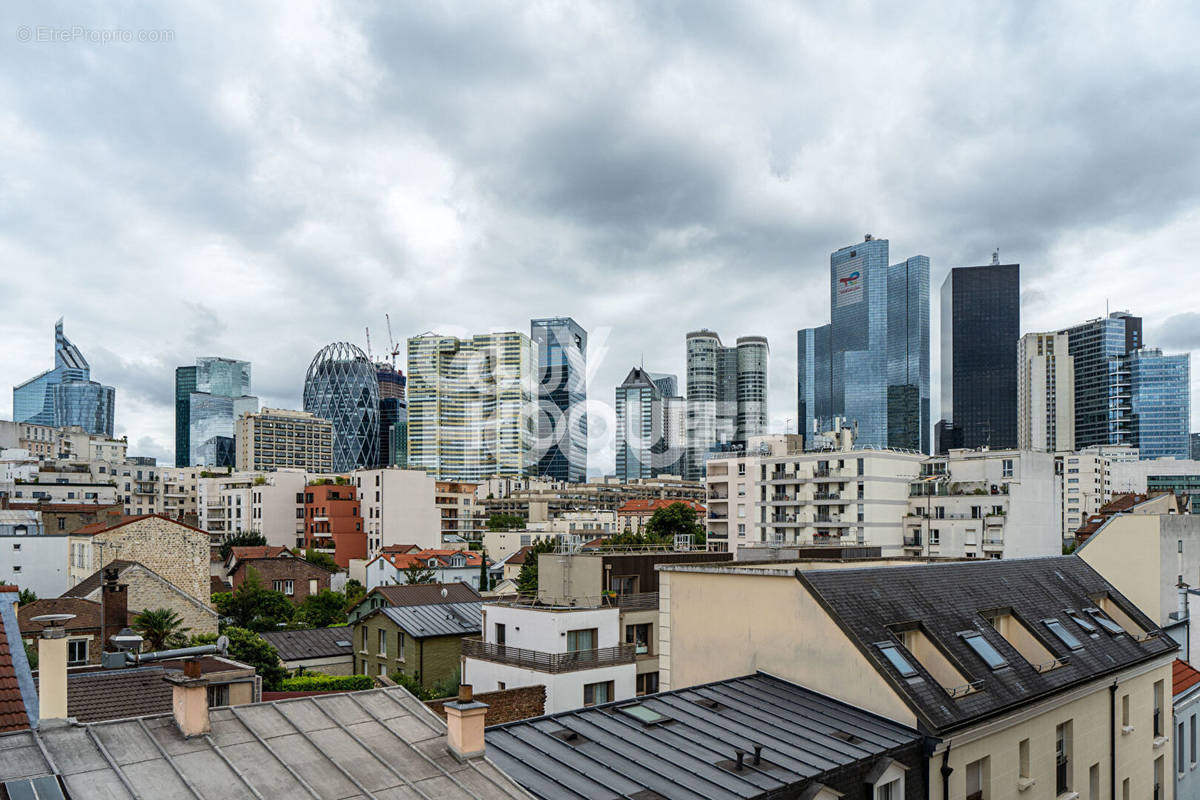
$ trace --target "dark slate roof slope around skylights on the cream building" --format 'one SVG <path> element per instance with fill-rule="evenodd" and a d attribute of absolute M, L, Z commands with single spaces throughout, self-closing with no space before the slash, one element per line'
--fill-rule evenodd
<path fill-rule="evenodd" d="M 985 561 L 954 561 L 917 566 L 857 570 L 796 571 L 797 579 L 816 597 L 842 632 L 930 729 L 947 733 L 1003 714 L 1014 704 L 1032 703 L 1082 682 L 1174 652 L 1176 645 L 1158 626 L 1121 595 L 1086 561 L 1073 555 Z M 1138 640 L 1128 633 L 1090 633 L 1066 614 L 1099 604 L 1106 595 L 1152 638 Z M 1008 609 L 1063 666 L 1038 672 L 983 616 L 982 612 Z M 1058 619 L 1082 643 L 1068 649 L 1051 636 L 1042 620 Z M 947 690 L 904 649 L 898 627 L 919 622 L 958 667 L 966 682 L 978 690 L 950 697 Z M 1008 666 L 990 669 L 959 636 L 979 632 Z M 917 674 L 904 678 L 884 657 L 877 643 L 900 645 Z"/>

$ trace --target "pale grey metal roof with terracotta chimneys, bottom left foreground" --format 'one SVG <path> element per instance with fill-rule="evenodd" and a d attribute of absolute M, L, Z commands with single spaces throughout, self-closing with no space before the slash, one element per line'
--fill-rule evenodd
<path fill-rule="evenodd" d="M 0 782 L 58 775 L 72 798 L 523 798 L 484 759 L 460 763 L 445 724 L 401 687 L 210 712 L 185 739 L 170 714 L 0 735 Z M 126 786 L 128 788 L 126 788 Z"/>

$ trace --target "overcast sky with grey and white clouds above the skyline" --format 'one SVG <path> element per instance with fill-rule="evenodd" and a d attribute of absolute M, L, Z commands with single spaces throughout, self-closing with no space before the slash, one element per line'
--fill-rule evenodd
<path fill-rule="evenodd" d="M 768 337 L 794 429 L 796 331 L 864 234 L 931 260 L 935 420 L 938 289 L 997 248 L 1022 331 L 1128 309 L 1200 350 L 1188 4 L 106 5 L 0 7 L 0 386 L 64 317 L 131 455 L 173 463 L 176 366 L 299 408 L 385 313 L 402 349 L 578 320 L 592 471 L 616 385 L 682 380 L 700 327 Z"/>

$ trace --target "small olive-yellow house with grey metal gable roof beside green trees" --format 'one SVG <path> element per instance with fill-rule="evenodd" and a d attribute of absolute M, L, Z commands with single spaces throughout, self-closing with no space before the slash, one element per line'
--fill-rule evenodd
<path fill-rule="evenodd" d="M 425 688 L 458 675 L 464 636 L 479 636 L 482 601 L 427 606 L 385 606 L 353 625 L 354 672 L 391 675 L 400 672 Z"/>

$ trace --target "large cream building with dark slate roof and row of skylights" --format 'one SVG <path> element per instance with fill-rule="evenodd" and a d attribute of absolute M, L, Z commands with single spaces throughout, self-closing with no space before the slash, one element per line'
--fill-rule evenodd
<path fill-rule="evenodd" d="M 762 670 L 918 728 L 937 740 L 932 800 L 1172 796 L 1177 645 L 1082 559 L 661 565 L 659 582 L 666 690 Z"/>

